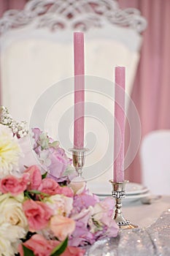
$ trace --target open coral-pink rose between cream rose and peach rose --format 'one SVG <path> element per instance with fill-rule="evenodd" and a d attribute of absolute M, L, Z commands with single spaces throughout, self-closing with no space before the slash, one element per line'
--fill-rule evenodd
<path fill-rule="evenodd" d="M 31 231 L 46 227 L 53 215 L 53 210 L 49 206 L 34 200 L 26 200 L 23 203 L 23 211 L 26 214 Z"/>

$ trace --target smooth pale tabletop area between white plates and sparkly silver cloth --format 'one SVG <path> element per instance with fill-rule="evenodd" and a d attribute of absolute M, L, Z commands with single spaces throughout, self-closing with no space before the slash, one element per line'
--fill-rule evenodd
<path fill-rule="evenodd" d="M 160 217 L 163 211 L 169 208 L 170 195 L 163 195 L 158 200 L 152 200 L 150 204 L 142 204 L 141 200 L 125 203 L 123 205 L 123 215 L 125 219 L 129 219 L 131 223 L 142 228 L 150 226 Z"/>

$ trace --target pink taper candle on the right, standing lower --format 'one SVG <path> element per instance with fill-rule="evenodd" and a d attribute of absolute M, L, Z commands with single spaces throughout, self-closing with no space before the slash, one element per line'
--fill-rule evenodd
<path fill-rule="evenodd" d="M 124 181 L 125 67 L 115 67 L 114 181 Z"/>

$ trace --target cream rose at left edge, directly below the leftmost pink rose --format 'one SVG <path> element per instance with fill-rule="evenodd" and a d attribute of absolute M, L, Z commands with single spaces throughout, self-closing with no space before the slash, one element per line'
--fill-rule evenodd
<path fill-rule="evenodd" d="M 22 195 L 20 195 L 21 197 Z M 18 200 L 20 197 L 9 197 L 9 194 L 0 196 L 0 225 L 9 223 L 10 225 L 18 225 L 25 229 L 28 228 L 28 222 L 23 212 L 22 203 Z"/>

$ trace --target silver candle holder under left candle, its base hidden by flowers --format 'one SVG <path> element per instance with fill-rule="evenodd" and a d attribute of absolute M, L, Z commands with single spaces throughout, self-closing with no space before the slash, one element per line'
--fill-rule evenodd
<path fill-rule="evenodd" d="M 82 167 L 85 164 L 85 152 L 89 151 L 89 149 L 88 148 L 70 148 L 69 151 L 72 151 L 73 166 L 77 171 L 77 178 L 74 178 L 74 181 L 81 181 L 84 179 L 82 177 Z"/>

